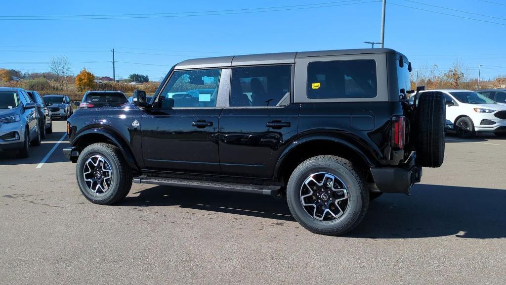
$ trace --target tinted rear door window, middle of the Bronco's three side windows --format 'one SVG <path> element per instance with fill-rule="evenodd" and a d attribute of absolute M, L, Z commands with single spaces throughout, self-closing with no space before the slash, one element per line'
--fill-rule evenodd
<path fill-rule="evenodd" d="M 230 106 L 268 107 L 290 94 L 291 66 L 250 66 L 232 69 Z"/>

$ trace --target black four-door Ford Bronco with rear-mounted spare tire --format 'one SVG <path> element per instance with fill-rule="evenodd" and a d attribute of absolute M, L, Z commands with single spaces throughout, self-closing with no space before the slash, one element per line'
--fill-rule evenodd
<path fill-rule="evenodd" d="M 391 49 L 225 56 L 176 64 L 150 102 L 68 119 L 82 194 L 123 199 L 132 182 L 277 197 L 340 235 L 382 193 L 409 193 L 444 157 L 444 96 L 408 101 L 411 64 Z"/>

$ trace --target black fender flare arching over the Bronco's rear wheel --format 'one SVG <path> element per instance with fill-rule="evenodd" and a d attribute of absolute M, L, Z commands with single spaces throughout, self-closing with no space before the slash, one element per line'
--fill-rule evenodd
<path fill-rule="evenodd" d="M 348 141 L 346 139 L 335 137 L 335 136 L 332 136 L 332 135 L 326 135 L 326 134 L 310 135 L 310 136 L 307 136 L 307 137 L 303 137 L 303 138 L 299 138 L 299 139 L 294 139 L 293 142 L 281 153 L 281 155 L 279 156 L 278 161 L 276 162 L 276 167 L 274 168 L 275 178 L 278 178 L 279 171 L 281 170 L 281 165 L 283 165 L 283 162 L 285 161 L 285 158 L 294 149 L 297 149 L 298 147 L 300 147 L 300 146 L 302 146 L 304 144 L 307 144 L 308 142 L 317 141 L 317 140 L 325 140 L 325 141 L 335 142 L 337 144 L 344 145 L 344 146 L 350 148 L 351 150 L 353 150 L 355 153 L 357 153 L 365 161 L 365 163 L 369 167 L 376 166 L 376 163 L 374 163 L 374 159 L 371 159 L 372 154 L 370 154 L 368 156 L 364 151 L 362 151 L 356 145 L 352 144 L 350 141 Z"/>

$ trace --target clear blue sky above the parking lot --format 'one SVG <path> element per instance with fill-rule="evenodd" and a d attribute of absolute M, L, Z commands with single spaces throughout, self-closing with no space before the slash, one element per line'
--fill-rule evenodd
<path fill-rule="evenodd" d="M 46 62 L 52 56 L 65 55 L 72 62 L 73 74 L 86 67 L 97 76 L 112 77 L 110 48 L 115 47 L 117 79 L 140 73 L 158 80 L 170 66 L 187 58 L 367 48 L 370 45 L 364 41 L 379 42 L 381 1 L 344 1 L 5 1 L 0 4 L 0 67 L 43 72 L 49 69 Z M 447 69 L 460 60 L 474 77 L 478 76 L 478 64 L 485 64 L 482 79 L 504 75 L 506 1 L 487 1 L 387 0 L 385 47 L 407 55 L 414 69 L 432 64 Z M 244 10 L 280 6 L 293 7 L 260 13 L 265 10 Z M 222 10 L 241 11 L 193 16 L 198 14 L 194 12 Z M 190 13 L 130 19 L 120 18 L 133 16 L 79 16 L 73 20 L 12 17 L 178 12 Z M 192 16 L 174 17 L 181 15 Z"/>

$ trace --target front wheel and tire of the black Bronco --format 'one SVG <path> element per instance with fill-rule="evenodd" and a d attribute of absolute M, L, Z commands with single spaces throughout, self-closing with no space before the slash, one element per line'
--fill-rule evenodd
<path fill-rule="evenodd" d="M 114 204 L 130 192 L 132 171 L 113 145 L 100 142 L 86 147 L 76 167 L 81 193 L 95 204 Z"/>

